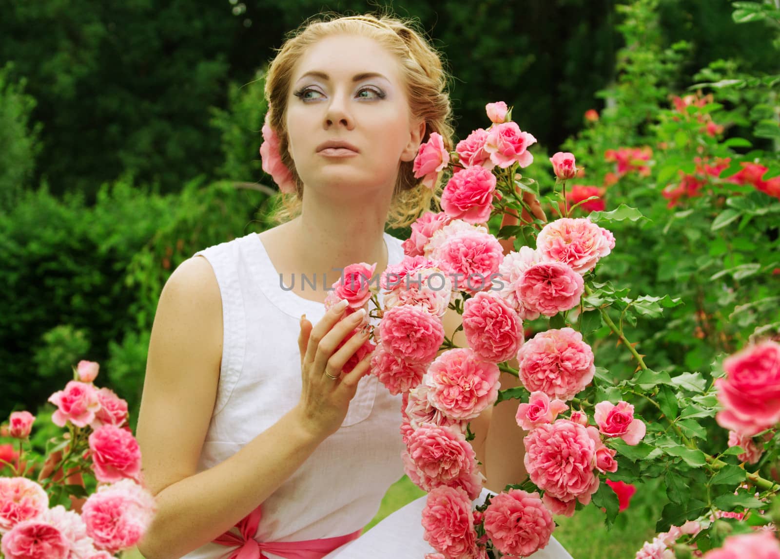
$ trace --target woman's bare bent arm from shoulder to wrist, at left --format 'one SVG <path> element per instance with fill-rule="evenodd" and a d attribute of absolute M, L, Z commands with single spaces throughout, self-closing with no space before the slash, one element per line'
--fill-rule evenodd
<path fill-rule="evenodd" d="M 138 547 L 178 559 L 225 533 L 289 479 L 322 438 L 298 410 L 218 465 L 197 472 L 222 359 L 222 299 L 205 258 L 183 262 L 154 317 L 137 438 L 158 513 Z"/>

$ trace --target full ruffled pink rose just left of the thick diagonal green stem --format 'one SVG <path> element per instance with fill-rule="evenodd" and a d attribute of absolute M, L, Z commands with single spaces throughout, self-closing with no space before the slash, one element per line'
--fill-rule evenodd
<path fill-rule="evenodd" d="M 530 392 L 564 401 L 580 392 L 596 373 L 593 351 L 571 328 L 540 332 L 517 352 L 519 378 Z"/>

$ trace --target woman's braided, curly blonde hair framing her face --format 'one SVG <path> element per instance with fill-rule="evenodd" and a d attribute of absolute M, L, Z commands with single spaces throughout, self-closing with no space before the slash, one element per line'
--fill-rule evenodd
<path fill-rule="evenodd" d="M 405 78 L 406 93 L 413 119 L 425 121 L 427 142 L 431 132 L 438 132 L 444 140 L 447 151 L 452 151 L 454 130 L 452 107 L 447 90 L 449 74 L 445 71 L 441 55 L 424 38 L 424 33 L 414 29 L 414 23 L 385 14 L 374 16 L 338 16 L 321 14 L 316 19 L 304 22 L 298 30 L 285 38 L 285 42 L 268 67 L 265 78 L 265 98 L 268 100 L 268 123 L 279 138 L 279 152 L 282 163 L 289 168 L 295 181 L 294 193 L 282 193 L 280 204 L 271 211 L 271 221 L 284 223 L 300 215 L 303 199 L 303 182 L 295 168 L 295 162 L 288 151 L 285 111 L 293 68 L 306 49 L 318 40 L 336 34 L 353 34 L 370 37 L 395 54 L 399 60 L 402 76 Z M 407 227 L 422 213 L 438 210 L 441 200 L 442 178 L 434 189 L 414 178 L 413 161 L 402 161 L 395 181 L 392 202 L 388 210 L 386 225 Z"/>

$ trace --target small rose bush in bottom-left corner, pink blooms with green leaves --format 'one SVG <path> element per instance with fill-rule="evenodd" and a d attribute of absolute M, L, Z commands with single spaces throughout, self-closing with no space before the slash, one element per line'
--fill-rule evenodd
<path fill-rule="evenodd" d="M 43 455 L 30 443 L 32 413 L 12 412 L 0 427 L 16 446 L 0 455 L 0 557 L 114 557 L 135 546 L 154 518 L 127 403 L 94 385 L 98 369 L 81 360 L 73 381 L 48 399 L 56 406 L 51 422 L 67 431 Z"/>

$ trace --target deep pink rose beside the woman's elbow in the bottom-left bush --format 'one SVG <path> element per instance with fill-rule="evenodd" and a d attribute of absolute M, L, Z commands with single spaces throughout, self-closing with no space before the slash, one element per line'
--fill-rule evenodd
<path fill-rule="evenodd" d="M 132 433 L 106 424 L 93 431 L 89 441 L 93 469 L 98 481 L 113 483 L 125 477 L 138 479 L 141 452 Z"/>

